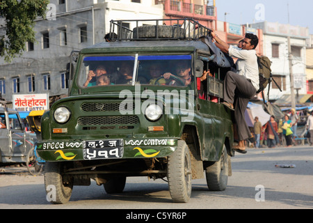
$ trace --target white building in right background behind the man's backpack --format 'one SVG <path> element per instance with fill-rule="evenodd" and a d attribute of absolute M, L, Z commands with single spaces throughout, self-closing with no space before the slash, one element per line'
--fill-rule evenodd
<path fill-rule="evenodd" d="M 300 102 L 307 94 L 306 87 L 306 41 L 310 37 L 309 29 L 290 24 L 280 24 L 278 22 L 259 22 L 250 24 L 250 27 L 263 30 L 263 51 L 264 55 L 272 61 L 272 74 L 278 87 L 272 83 L 269 100 L 278 104 L 291 104 L 291 82 L 289 72 L 288 41 L 290 36 L 292 72 L 294 76 L 294 89 L 296 103 Z M 267 89 L 264 91 L 266 99 Z"/>

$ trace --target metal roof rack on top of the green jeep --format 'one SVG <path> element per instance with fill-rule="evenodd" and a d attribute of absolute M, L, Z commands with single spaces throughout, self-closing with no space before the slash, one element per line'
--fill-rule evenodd
<path fill-rule="evenodd" d="M 135 24 L 133 30 L 127 24 Z M 193 19 L 111 20 L 110 41 L 118 40 L 197 40 L 211 29 Z"/>

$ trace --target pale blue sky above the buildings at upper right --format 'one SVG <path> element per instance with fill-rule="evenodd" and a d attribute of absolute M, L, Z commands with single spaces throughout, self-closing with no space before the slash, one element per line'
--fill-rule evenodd
<path fill-rule="evenodd" d="M 264 21 L 290 23 L 308 27 L 313 34 L 313 0 L 216 0 L 216 8 L 220 21 L 225 21 L 227 13 L 226 21 L 234 24 Z"/>

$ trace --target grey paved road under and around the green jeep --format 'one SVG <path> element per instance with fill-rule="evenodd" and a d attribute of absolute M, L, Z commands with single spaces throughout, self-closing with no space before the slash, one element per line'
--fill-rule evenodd
<path fill-rule="evenodd" d="M 275 164 L 296 167 L 277 168 Z M 89 187 L 74 187 L 69 203 L 51 205 L 45 198 L 43 176 L 30 176 L 25 169 L 6 167 L 5 174 L 0 171 L 0 209 L 313 208 L 313 147 L 250 148 L 245 155 L 236 153 L 227 190 L 209 192 L 205 179 L 193 180 L 189 203 L 172 203 L 163 180 L 134 177 L 127 178 L 122 194 L 106 194 L 93 181 Z"/>

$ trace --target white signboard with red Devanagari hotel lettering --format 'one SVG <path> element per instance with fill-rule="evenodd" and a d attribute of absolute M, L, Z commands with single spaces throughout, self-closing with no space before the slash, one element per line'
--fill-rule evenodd
<path fill-rule="evenodd" d="M 31 112 L 49 109 L 47 93 L 13 95 L 13 109 L 18 112 Z"/>

